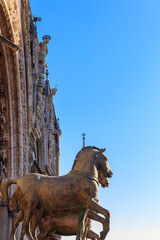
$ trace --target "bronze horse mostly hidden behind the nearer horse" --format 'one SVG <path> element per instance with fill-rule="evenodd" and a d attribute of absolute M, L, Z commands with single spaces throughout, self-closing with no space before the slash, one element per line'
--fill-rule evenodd
<path fill-rule="evenodd" d="M 103 188 L 109 187 L 108 179 L 106 179 L 100 171 L 98 171 L 98 182 Z M 65 211 L 56 210 L 52 212 L 45 212 L 41 219 L 39 218 L 40 215 L 41 212 L 37 209 L 30 222 L 30 231 L 33 237 L 35 237 L 35 229 L 37 225 L 39 225 L 40 234 L 38 235 L 38 240 L 45 239 L 47 234 L 49 234 L 49 236 L 53 236 L 55 233 L 63 236 L 71 236 L 76 235 L 78 231 L 79 209 L 77 208 Z M 86 236 L 89 239 L 100 240 L 99 235 L 91 230 L 91 219 L 98 221 L 105 226 L 105 219 L 90 210 L 87 214 L 85 231 L 82 239 L 85 239 Z"/>

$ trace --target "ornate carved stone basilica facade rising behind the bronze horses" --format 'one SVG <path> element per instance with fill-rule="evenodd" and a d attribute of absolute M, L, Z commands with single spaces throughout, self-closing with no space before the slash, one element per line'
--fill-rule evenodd
<path fill-rule="evenodd" d="M 59 175 L 57 89 L 50 87 L 46 63 L 50 36 L 39 42 L 36 21 L 28 0 L 0 0 L 0 182 L 31 172 Z M 12 217 L 0 199 L 2 240 Z"/>

